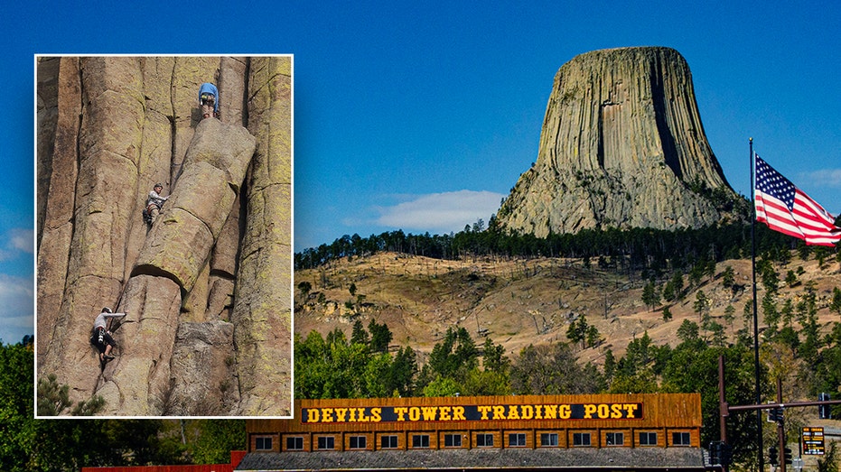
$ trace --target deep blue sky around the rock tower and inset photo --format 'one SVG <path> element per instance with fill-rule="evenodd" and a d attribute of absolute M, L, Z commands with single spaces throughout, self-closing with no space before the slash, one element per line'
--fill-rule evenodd
<path fill-rule="evenodd" d="M 753 137 L 766 161 L 841 212 L 837 2 L 6 4 L 7 343 L 32 332 L 36 53 L 294 54 L 296 251 L 354 233 L 487 222 L 537 157 L 557 69 L 621 46 L 668 46 L 687 59 L 706 136 L 735 190 L 750 193 Z"/>

